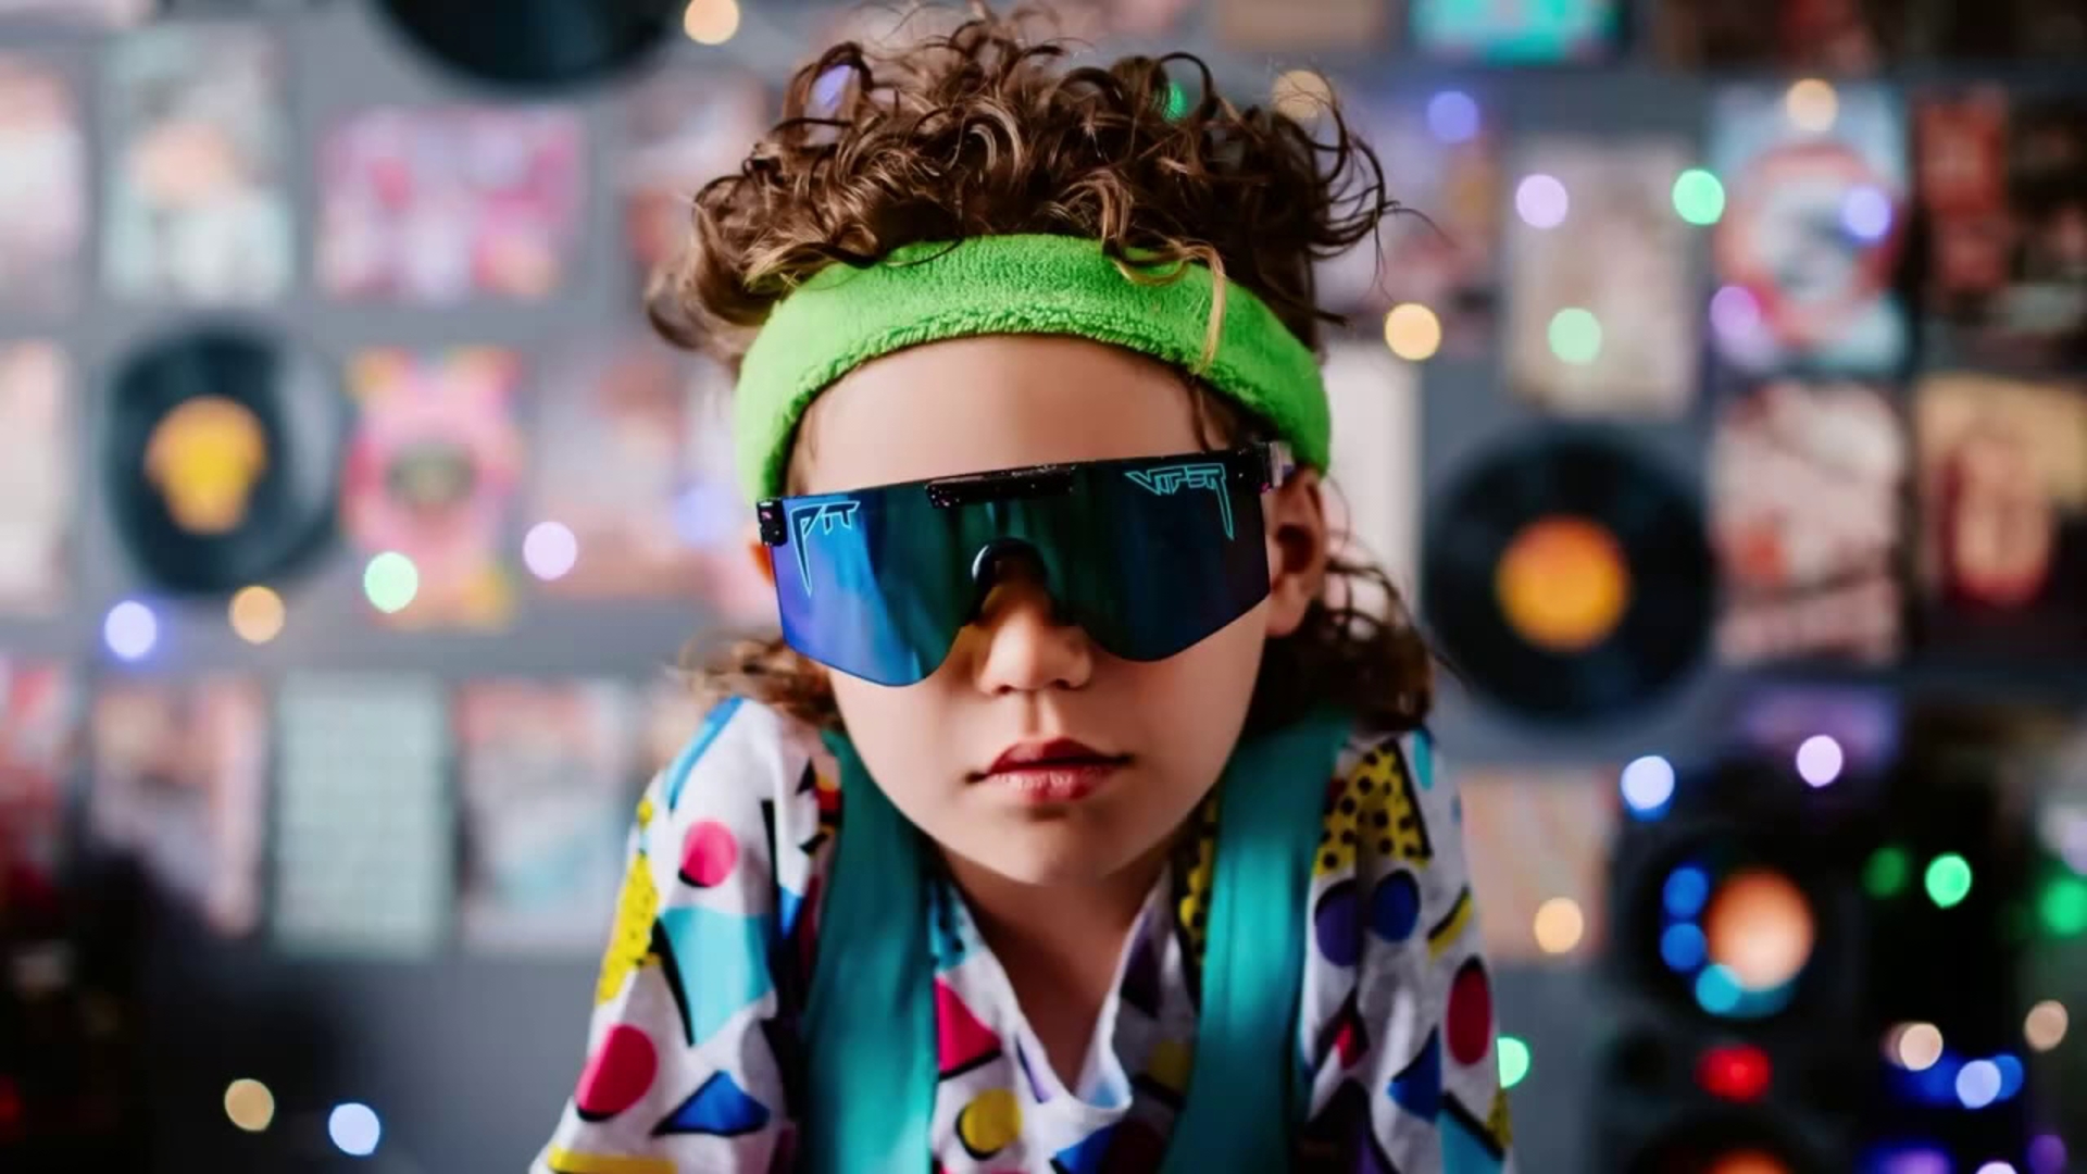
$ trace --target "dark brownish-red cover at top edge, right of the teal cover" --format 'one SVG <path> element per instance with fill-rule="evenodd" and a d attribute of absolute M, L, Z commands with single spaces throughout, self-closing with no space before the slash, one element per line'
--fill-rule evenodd
<path fill-rule="evenodd" d="M 1659 0 L 1653 44 L 1680 69 L 1868 75 L 1905 52 L 1908 0 Z"/>

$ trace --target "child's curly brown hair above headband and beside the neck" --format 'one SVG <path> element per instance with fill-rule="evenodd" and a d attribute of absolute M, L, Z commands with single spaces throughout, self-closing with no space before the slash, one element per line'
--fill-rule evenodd
<path fill-rule="evenodd" d="M 737 372 L 776 301 L 829 265 L 872 265 L 914 242 L 1060 234 L 1100 240 L 1119 263 L 1206 263 L 1319 349 L 1340 318 L 1317 307 L 1313 263 L 1400 211 L 1340 111 L 1325 104 L 1334 134 L 1319 142 L 1298 119 L 1221 98 L 1196 56 L 1069 67 L 1071 48 L 1031 38 L 1033 21 L 970 4 L 943 36 L 895 52 L 847 42 L 799 69 L 739 173 L 697 192 L 691 249 L 653 278 L 653 326 Z M 1188 384 L 1221 439 L 1267 435 Z M 693 660 L 703 691 L 839 725 L 824 671 L 776 637 Z M 1336 704 L 1402 731 L 1430 700 L 1428 648 L 1398 591 L 1338 551 L 1323 600 L 1269 641 L 1248 727 Z"/>

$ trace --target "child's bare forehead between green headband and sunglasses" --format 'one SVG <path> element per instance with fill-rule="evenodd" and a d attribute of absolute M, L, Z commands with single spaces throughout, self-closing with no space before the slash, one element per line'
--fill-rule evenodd
<path fill-rule="evenodd" d="M 1156 359 L 1054 336 L 895 351 L 812 401 L 793 493 L 1200 447 L 1188 382 Z"/>

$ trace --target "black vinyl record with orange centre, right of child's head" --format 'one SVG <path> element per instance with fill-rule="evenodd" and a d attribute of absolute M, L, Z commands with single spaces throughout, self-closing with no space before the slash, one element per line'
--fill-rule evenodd
<path fill-rule="evenodd" d="M 1430 522 L 1423 600 L 1476 689 L 1549 721 L 1609 717 L 1670 689 L 1711 623 L 1690 495 L 1599 432 L 1503 445 Z"/>

